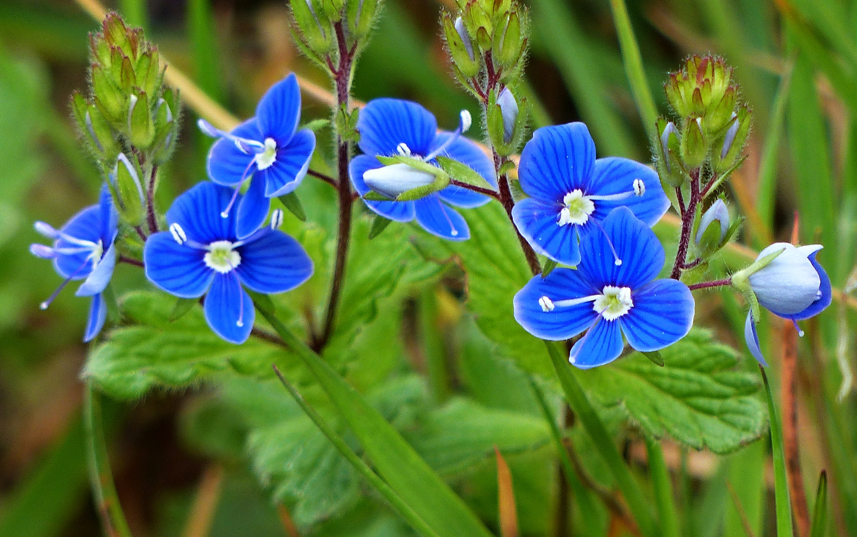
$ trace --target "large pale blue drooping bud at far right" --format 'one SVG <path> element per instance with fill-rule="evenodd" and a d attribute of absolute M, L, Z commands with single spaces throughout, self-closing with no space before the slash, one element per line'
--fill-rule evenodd
<path fill-rule="evenodd" d="M 775 242 L 764 248 L 757 260 L 782 250 L 764 268 L 750 275 L 750 286 L 758 303 L 780 317 L 800 313 L 818 299 L 821 278 L 808 259 L 823 248 L 820 244 L 795 247 Z"/>

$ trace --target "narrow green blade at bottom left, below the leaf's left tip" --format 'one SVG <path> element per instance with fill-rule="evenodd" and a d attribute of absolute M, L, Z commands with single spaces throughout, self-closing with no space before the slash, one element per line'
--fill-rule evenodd
<path fill-rule="evenodd" d="M 101 419 L 101 396 L 92 385 L 87 385 L 83 403 L 83 422 L 87 433 L 87 459 L 89 480 L 93 487 L 95 506 L 99 511 L 101 528 L 107 537 L 132 537 L 128 522 L 119 504 L 113 474 L 107 458 L 104 428 Z"/>

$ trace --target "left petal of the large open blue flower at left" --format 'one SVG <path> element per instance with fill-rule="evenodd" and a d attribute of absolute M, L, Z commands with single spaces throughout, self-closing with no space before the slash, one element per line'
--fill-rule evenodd
<path fill-rule="evenodd" d="M 203 261 L 204 250 L 180 245 L 168 231 L 150 236 L 143 248 L 146 277 L 159 289 L 182 298 L 202 296 L 214 271 Z"/>

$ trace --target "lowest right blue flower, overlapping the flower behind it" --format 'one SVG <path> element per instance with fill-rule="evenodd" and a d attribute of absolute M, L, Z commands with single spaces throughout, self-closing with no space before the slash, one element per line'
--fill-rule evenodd
<path fill-rule="evenodd" d="M 576 269 L 533 277 L 514 301 L 515 319 L 536 337 L 560 341 L 588 329 L 569 355 L 582 369 L 618 358 L 623 333 L 632 348 L 650 352 L 685 337 L 693 323 L 687 286 L 655 279 L 664 254 L 649 226 L 627 207 L 614 209 L 602 225 L 603 233 L 581 237 Z"/>

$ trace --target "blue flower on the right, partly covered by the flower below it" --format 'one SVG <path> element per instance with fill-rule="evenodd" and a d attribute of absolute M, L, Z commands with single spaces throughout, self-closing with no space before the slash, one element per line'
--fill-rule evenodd
<path fill-rule="evenodd" d="M 518 178 L 524 193 L 512 219 L 537 253 L 575 266 L 578 237 L 617 206 L 627 206 L 650 226 L 669 208 L 654 170 L 627 158 L 595 158 L 584 123 L 536 130 L 521 152 Z"/>

